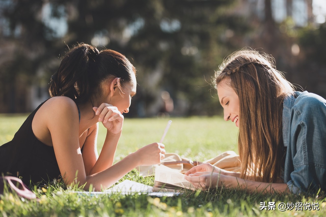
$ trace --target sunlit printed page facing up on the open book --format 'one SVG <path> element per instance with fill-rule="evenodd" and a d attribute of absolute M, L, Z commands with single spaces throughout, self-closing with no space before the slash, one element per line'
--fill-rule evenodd
<path fill-rule="evenodd" d="M 175 170 L 166 167 L 164 165 L 160 165 L 159 167 L 156 168 L 154 181 L 173 184 L 193 191 L 196 190 L 190 182 L 185 180 L 184 174 L 180 172 L 176 172 Z"/>

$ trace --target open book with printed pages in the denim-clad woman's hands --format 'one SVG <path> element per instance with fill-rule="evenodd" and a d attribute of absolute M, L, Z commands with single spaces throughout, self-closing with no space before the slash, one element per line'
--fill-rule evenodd
<path fill-rule="evenodd" d="M 184 192 L 185 189 L 196 190 L 189 181 L 185 180 L 184 174 L 164 165 L 156 168 L 153 191 Z"/>

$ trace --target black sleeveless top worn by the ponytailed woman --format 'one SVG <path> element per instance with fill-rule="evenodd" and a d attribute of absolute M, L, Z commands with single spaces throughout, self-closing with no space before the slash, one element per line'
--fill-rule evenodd
<path fill-rule="evenodd" d="M 61 176 L 53 147 L 39 141 L 32 130 L 34 115 L 44 102 L 27 117 L 14 138 L 0 146 L 0 175 L 20 177 L 27 186 Z M 80 120 L 79 108 L 78 113 Z"/>

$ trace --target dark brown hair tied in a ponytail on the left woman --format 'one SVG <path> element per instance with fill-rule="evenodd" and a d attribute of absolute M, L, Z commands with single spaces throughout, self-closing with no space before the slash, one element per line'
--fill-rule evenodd
<path fill-rule="evenodd" d="M 59 69 L 51 77 L 51 97 L 66 96 L 78 103 L 85 103 L 97 97 L 99 87 L 108 78 L 120 78 L 130 82 L 136 73 L 128 59 L 114 50 L 102 50 L 81 43 L 67 52 Z M 93 102 L 92 102 L 93 104 Z"/>

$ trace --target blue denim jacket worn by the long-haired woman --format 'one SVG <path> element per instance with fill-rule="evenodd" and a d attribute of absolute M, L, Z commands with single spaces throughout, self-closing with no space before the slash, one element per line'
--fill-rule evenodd
<path fill-rule="evenodd" d="M 284 183 L 295 194 L 326 191 L 326 100 L 294 92 L 284 99 L 282 124 L 287 146 Z"/>

